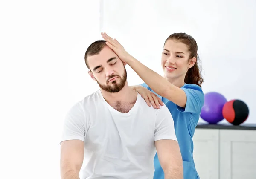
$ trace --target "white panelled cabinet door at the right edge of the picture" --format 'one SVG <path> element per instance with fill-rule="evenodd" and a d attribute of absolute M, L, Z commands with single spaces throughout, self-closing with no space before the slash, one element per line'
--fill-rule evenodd
<path fill-rule="evenodd" d="M 256 179 L 256 130 L 220 130 L 221 179 Z"/>

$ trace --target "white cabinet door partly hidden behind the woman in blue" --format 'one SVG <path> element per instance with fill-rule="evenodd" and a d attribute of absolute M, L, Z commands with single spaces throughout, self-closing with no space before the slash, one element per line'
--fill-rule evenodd
<path fill-rule="evenodd" d="M 219 179 L 219 129 L 195 129 L 194 161 L 201 179 Z"/>

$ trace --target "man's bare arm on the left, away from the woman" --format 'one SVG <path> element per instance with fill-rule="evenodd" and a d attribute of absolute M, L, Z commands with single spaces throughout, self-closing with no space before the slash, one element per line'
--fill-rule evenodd
<path fill-rule="evenodd" d="M 61 143 L 61 179 L 79 179 L 84 160 L 84 141 L 68 140 Z"/>

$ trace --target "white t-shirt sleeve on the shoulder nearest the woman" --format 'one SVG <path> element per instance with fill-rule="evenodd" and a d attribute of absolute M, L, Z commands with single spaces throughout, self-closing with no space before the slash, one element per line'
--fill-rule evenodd
<path fill-rule="evenodd" d="M 177 141 L 174 121 L 166 105 L 161 106 L 160 109 L 157 110 L 157 119 L 155 123 L 154 141 L 163 139 Z"/>

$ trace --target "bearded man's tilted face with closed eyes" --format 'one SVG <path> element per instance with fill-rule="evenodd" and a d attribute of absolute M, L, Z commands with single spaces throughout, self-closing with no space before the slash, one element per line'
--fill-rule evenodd
<path fill-rule="evenodd" d="M 98 55 L 88 56 L 89 74 L 107 92 L 119 92 L 125 86 L 127 72 L 123 62 L 108 46 Z"/>

